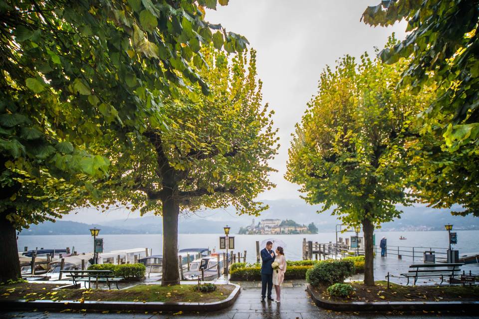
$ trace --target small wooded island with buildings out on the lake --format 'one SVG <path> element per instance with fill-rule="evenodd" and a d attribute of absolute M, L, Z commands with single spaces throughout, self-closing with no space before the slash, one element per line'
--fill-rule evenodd
<path fill-rule="evenodd" d="M 314 223 L 300 225 L 291 219 L 261 219 L 257 224 L 254 219 L 251 225 L 240 227 L 239 235 L 278 235 L 278 234 L 317 234 Z"/>

